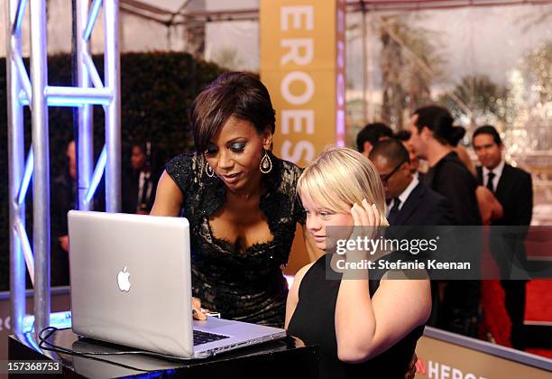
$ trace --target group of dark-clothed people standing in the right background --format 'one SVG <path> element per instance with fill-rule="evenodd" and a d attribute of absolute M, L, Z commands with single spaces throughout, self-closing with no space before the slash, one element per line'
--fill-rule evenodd
<path fill-rule="evenodd" d="M 531 176 L 504 162 L 504 145 L 492 125 L 478 127 L 471 141 L 480 165 L 474 167 L 458 142 L 465 129 L 454 126 L 440 106 L 419 108 L 408 128 L 394 134 L 381 123 L 366 125 L 357 135 L 357 149 L 380 172 L 391 226 L 529 226 L 533 192 Z M 425 164 L 420 165 L 420 159 Z M 424 167 L 425 170 L 422 170 Z M 517 254 L 508 245 L 491 245 L 491 254 L 509 277 L 505 256 Z M 517 259 L 525 260 L 523 255 Z M 523 280 L 502 280 L 505 307 L 511 319 L 511 344 L 525 347 Z M 477 337 L 481 319 L 480 281 L 432 282 L 433 310 L 429 325 Z"/>

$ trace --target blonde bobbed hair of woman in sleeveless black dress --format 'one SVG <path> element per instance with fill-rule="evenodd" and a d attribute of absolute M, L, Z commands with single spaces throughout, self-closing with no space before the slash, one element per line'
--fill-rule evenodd
<path fill-rule="evenodd" d="M 380 211 L 380 225 L 389 225 L 385 219 L 385 190 L 380 175 L 368 158 L 353 149 L 327 147 L 299 177 L 297 193 L 337 212 L 349 212 L 340 203 L 353 207 L 354 203 L 362 205 L 366 199 Z"/>

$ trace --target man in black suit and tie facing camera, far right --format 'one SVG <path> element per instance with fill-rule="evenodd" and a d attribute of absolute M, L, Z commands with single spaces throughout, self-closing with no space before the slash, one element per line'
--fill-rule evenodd
<path fill-rule="evenodd" d="M 512 167 L 502 159 L 504 146 L 494 126 L 477 128 L 473 138 L 474 150 L 482 166 L 477 167 L 477 181 L 491 189 L 504 209 L 504 216 L 492 221 L 492 226 L 529 226 L 533 213 L 533 188 L 529 172 Z M 493 235 L 493 234 L 492 234 Z M 510 260 L 525 261 L 525 250 L 520 243 L 502 243 L 491 239 L 492 254 L 497 257 L 501 269 L 502 288 L 505 292 L 505 306 L 511 319 L 511 344 L 524 349 L 525 336 L 523 319 L 525 315 L 526 281 L 508 280 Z M 496 243 L 498 242 L 498 244 Z M 504 240 L 503 240 L 504 242 Z M 500 251 L 497 246 L 501 246 Z M 494 248 L 493 248 L 494 247 Z"/>

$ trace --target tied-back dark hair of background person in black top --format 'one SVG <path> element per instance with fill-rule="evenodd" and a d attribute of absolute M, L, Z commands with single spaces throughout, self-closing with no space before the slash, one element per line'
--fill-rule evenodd
<path fill-rule="evenodd" d="M 442 106 L 422 106 L 413 115 L 417 115 L 416 128 L 419 132 L 424 126 L 433 132 L 434 138 L 441 144 L 456 146 L 464 137 L 465 128 L 453 126 L 454 119 Z"/>

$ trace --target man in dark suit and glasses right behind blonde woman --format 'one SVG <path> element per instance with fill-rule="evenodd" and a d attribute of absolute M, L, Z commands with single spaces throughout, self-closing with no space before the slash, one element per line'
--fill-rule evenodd
<path fill-rule="evenodd" d="M 409 152 L 396 139 L 377 143 L 370 159 L 380 173 L 385 197 L 389 203 L 387 219 L 390 226 L 452 225 L 452 209 L 437 192 L 419 182 L 411 170 Z M 425 230 L 425 229 L 424 229 Z M 390 230 L 394 238 L 426 238 L 422 229 L 405 227 Z M 426 239 L 428 239 L 427 237 Z M 428 325 L 437 326 L 439 296 L 437 282 L 431 283 L 432 308 Z"/>

